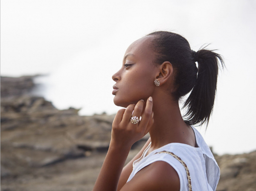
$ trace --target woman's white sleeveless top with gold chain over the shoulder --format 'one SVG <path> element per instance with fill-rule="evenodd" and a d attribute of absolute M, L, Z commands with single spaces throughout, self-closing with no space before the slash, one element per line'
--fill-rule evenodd
<path fill-rule="evenodd" d="M 197 148 L 174 142 L 153 150 L 145 157 L 151 145 L 150 142 L 148 147 L 145 148 L 142 156 L 134 161 L 133 171 L 127 182 L 129 182 L 138 171 L 152 162 L 165 161 L 177 171 L 180 178 L 180 191 L 189 191 L 188 179 L 184 166 L 168 153 L 157 153 L 166 150 L 179 156 L 180 159 L 186 163 L 189 169 L 193 191 L 215 191 L 220 178 L 220 168 L 218 167 L 209 146 L 204 141 L 204 138 L 195 127 L 191 127 L 195 133 L 195 141 L 198 145 Z M 157 154 L 154 155 L 154 153 Z"/>

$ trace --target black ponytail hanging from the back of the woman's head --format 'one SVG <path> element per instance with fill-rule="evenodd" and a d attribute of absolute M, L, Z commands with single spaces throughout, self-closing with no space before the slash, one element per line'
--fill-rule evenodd
<path fill-rule="evenodd" d="M 192 52 L 194 61 L 198 62 L 198 75 L 195 86 L 183 105 L 183 109 L 187 108 L 183 116 L 186 124 L 201 125 L 206 122 L 208 126 L 217 90 L 218 68 L 220 64 L 222 68 L 225 66 L 221 55 L 204 48 Z"/>

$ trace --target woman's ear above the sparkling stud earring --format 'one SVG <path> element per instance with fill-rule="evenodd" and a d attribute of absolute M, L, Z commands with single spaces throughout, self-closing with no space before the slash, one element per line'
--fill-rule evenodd
<path fill-rule="evenodd" d="M 173 67 L 172 64 L 169 61 L 163 62 L 163 64 L 159 67 L 159 72 L 157 72 L 157 76 L 155 77 L 160 82 L 160 86 L 166 83 L 166 81 L 169 80 L 169 78 L 174 77 Z"/>

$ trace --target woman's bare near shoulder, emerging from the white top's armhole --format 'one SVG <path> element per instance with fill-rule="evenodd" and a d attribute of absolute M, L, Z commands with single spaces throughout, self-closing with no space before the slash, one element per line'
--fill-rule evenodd
<path fill-rule="evenodd" d="M 152 162 L 138 171 L 120 191 L 180 191 L 175 169 L 165 161 Z"/>

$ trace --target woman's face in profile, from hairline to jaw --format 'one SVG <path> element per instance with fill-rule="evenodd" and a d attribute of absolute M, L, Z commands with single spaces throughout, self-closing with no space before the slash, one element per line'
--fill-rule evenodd
<path fill-rule="evenodd" d="M 118 88 L 113 92 L 115 105 L 126 108 L 153 94 L 157 67 L 152 63 L 154 52 L 149 48 L 152 39 L 153 36 L 140 38 L 126 50 L 121 69 L 112 76 Z"/>

